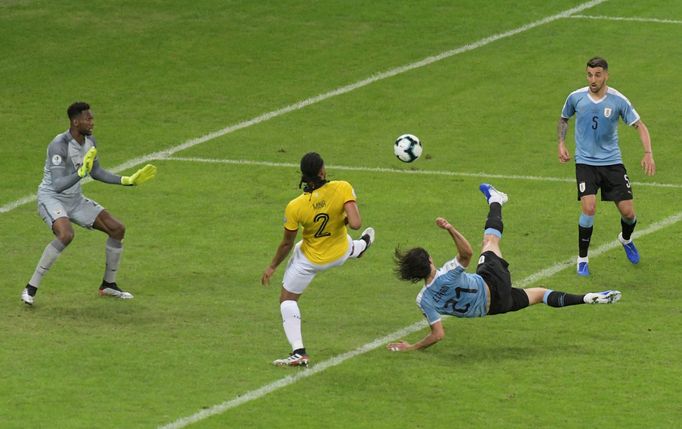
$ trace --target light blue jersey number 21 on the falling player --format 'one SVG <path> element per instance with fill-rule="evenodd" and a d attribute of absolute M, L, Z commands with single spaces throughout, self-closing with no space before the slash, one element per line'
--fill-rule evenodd
<path fill-rule="evenodd" d="M 487 292 L 483 278 L 464 272 L 457 258 L 443 265 L 431 283 L 417 295 L 417 305 L 433 325 L 441 315 L 482 317 L 486 315 Z"/>

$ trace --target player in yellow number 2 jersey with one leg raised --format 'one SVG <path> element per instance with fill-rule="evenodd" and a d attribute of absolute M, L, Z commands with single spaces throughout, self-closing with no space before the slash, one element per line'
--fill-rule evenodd
<path fill-rule="evenodd" d="M 289 202 L 284 211 L 284 238 L 277 247 L 275 257 L 265 268 L 261 283 L 268 285 L 279 264 L 294 249 L 289 259 L 282 291 L 279 296 L 284 333 L 292 352 L 277 359 L 278 366 L 308 366 L 308 355 L 301 335 L 301 312 L 298 298 L 315 275 L 329 268 L 343 265 L 348 258 L 359 258 L 374 242 L 374 229 L 367 228 L 360 240 L 348 235 L 346 225 L 360 229 L 362 220 L 355 201 L 355 191 L 342 180 L 328 181 L 322 157 L 309 152 L 301 159 L 303 194 Z M 303 238 L 294 245 L 299 225 Z"/>

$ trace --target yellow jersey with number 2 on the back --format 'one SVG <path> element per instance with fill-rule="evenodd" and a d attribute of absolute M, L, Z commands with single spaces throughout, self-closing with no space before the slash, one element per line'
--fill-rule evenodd
<path fill-rule="evenodd" d="M 344 204 L 355 201 L 350 183 L 334 180 L 313 192 L 305 192 L 287 204 L 284 228 L 303 227 L 301 251 L 315 264 L 327 264 L 348 251 Z"/>

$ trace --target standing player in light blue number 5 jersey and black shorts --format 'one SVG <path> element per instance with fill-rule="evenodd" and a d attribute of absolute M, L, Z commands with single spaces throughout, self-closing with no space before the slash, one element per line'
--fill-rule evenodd
<path fill-rule="evenodd" d="M 594 214 L 597 209 L 597 191 L 601 188 L 602 201 L 613 201 L 621 215 L 621 233 L 618 240 L 630 262 L 639 262 L 639 252 L 632 242 L 632 232 L 637 216 L 632 203 L 632 187 L 618 146 L 618 120 L 634 127 L 642 141 L 644 172 L 653 176 L 656 164 L 651 151 L 649 130 L 623 94 L 606 85 L 609 66 L 605 59 L 594 57 L 587 62 L 589 86 L 573 91 L 564 103 L 557 126 L 559 135 L 559 161 L 568 162 L 571 155 L 566 149 L 568 119 L 576 115 L 575 122 L 575 176 L 578 200 L 582 210 L 578 220 L 577 271 L 581 276 L 590 274 L 587 252 L 592 238 Z"/>

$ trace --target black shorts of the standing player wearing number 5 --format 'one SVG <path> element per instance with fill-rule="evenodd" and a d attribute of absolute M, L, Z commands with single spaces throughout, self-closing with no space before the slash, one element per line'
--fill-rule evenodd
<path fill-rule="evenodd" d="M 623 164 L 575 165 L 578 200 L 584 195 L 597 195 L 601 188 L 602 201 L 625 201 L 632 199 L 632 187 Z"/>

